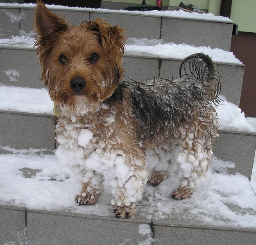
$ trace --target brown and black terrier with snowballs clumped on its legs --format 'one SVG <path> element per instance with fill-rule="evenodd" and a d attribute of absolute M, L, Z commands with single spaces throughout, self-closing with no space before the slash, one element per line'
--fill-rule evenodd
<path fill-rule="evenodd" d="M 102 19 L 74 27 L 41 1 L 35 13 L 41 79 L 61 109 L 56 154 L 81 183 L 77 204 L 97 202 L 104 176 L 118 218 L 135 215 L 146 183 L 175 177 L 174 198 L 193 194 L 218 137 L 222 80 L 211 58 L 188 56 L 180 78 L 122 81 L 125 29 Z"/>

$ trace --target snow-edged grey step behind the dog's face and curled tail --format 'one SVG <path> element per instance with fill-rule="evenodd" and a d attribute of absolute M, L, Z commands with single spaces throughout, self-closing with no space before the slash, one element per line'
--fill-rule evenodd
<path fill-rule="evenodd" d="M 41 68 L 33 43 L 5 42 L 5 44 L 0 44 L 0 67 L 2 67 L 0 70 L 0 84 L 33 88 L 43 87 L 43 82 L 40 80 Z M 146 51 L 134 51 L 134 47 L 133 45 L 127 45 L 127 51 L 123 59 L 124 79 L 131 78 L 140 81 L 158 76 L 171 79 L 179 76 L 179 66 L 182 60 L 191 54 L 191 50 L 194 53 L 203 51 L 213 57 L 213 61 L 217 62 L 223 73 L 225 82 L 222 85 L 221 94 L 226 96 L 229 102 L 239 105 L 244 65 L 236 58 L 231 58 L 231 62 L 225 62 L 224 57 L 233 56 L 232 53 L 220 49 L 216 51 L 206 47 L 184 45 L 182 46 L 183 53 L 179 56 L 176 55 L 179 50 L 177 53 L 175 51 L 170 53 L 170 55 L 163 56 L 160 54 L 156 56 L 154 53 L 147 53 Z M 163 48 L 165 48 L 164 45 Z M 217 57 L 215 57 L 216 53 L 218 54 Z M 220 54 L 224 61 L 220 59 Z"/>

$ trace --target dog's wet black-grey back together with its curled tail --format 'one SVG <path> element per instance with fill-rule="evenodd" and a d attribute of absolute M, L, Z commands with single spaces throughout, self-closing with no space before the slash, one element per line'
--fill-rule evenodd
<path fill-rule="evenodd" d="M 181 75 L 184 71 L 184 75 Z M 218 103 L 221 76 L 217 65 L 203 53 L 188 56 L 179 69 L 180 78 L 154 79 L 137 82 L 120 82 L 112 99 L 122 100 L 130 94 L 134 114 L 139 119 L 142 141 L 164 138 L 179 127 L 181 122 L 190 123 L 195 109 Z M 204 104 L 204 105 L 203 105 Z M 199 106 L 201 105 L 201 106 Z"/>

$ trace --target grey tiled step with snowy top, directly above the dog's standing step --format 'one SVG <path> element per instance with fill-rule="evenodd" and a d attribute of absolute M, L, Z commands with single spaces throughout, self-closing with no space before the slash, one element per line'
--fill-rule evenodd
<path fill-rule="evenodd" d="M 0 153 L 11 152 L 10 148 L 34 148 L 45 149 L 52 154 L 52 150 L 56 149 L 55 125 L 53 105 L 46 89 L 7 86 L 1 89 L 9 91 L 10 95 L 3 92 L 7 96 L 1 96 Z M 230 173 L 239 172 L 250 180 L 255 148 L 255 131 L 221 127 L 220 137 L 213 152 L 217 158 L 235 163 L 236 167 L 230 168 Z"/>

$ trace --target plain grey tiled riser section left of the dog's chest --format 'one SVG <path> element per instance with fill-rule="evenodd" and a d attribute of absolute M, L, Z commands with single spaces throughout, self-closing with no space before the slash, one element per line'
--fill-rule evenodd
<path fill-rule="evenodd" d="M 0 145 L 3 147 L 53 150 L 54 131 L 52 116 L 0 111 Z M 6 152 L 0 149 L 0 154 Z"/>

